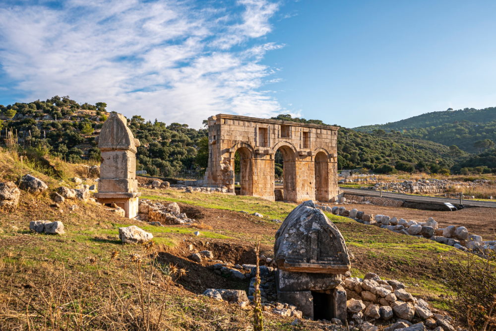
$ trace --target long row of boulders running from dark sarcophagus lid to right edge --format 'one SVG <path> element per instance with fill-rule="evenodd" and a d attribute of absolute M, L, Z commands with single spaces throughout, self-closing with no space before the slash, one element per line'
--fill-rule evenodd
<path fill-rule="evenodd" d="M 426 222 L 389 217 L 387 215 L 373 215 L 359 211 L 356 208 L 347 210 L 344 206 L 324 206 L 319 208 L 332 212 L 335 215 L 350 217 L 365 225 L 375 225 L 397 233 L 424 237 L 438 243 L 453 246 L 462 251 L 470 251 L 481 257 L 494 254 L 496 252 L 496 241 L 483 241 L 481 236 L 469 234 L 464 226 L 450 225 L 446 228 L 439 228 L 434 218 L 430 217 Z"/>

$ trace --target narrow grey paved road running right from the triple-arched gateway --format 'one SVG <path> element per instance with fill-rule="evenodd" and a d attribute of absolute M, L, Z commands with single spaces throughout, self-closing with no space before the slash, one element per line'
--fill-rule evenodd
<path fill-rule="evenodd" d="M 379 191 L 372 190 L 362 190 L 362 189 L 350 189 L 350 188 L 342 188 L 339 190 L 348 194 L 355 194 L 357 196 L 367 196 L 367 197 L 380 197 Z M 389 193 L 382 191 L 382 197 L 384 198 L 392 198 L 409 202 L 432 202 L 432 203 L 444 203 L 451 202 L 455 206 L 460 204 L 460 199 L 448 199 L 448 198 L 434 198 L 434 197 L 421 197 L 421 196 L 412 196 L 408 194 L 402 193 Z M 463 200 L 463 205 L 466 207 L 489 207 L 496 208 L 496 202 L 489 201 L 476 201 L 476 200 Z"/>

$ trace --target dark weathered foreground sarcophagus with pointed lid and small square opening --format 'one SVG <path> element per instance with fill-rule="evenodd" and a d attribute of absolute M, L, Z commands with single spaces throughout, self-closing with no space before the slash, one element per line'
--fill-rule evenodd
<path fill-rule="evenodd" d="M 315 320 L 346 320 L 346 291 L 341 275 L 350 253 L 337 227 L 312 201 L 296 207 L 276 233 L 279 302 L 298 307 Z"/>

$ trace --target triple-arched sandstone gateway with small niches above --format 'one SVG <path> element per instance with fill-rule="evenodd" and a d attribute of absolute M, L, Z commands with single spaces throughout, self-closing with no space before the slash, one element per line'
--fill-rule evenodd
<path fill-rule="evenodd" d="M 240 155 L 241 195 L 274 200 L 274 156 L 281 151 L 284 200 L 330 200 L 337 196 L 337 133 L 327 125 L 219 114 L 208 119 L 208 185 L 235 192 Z"/>

